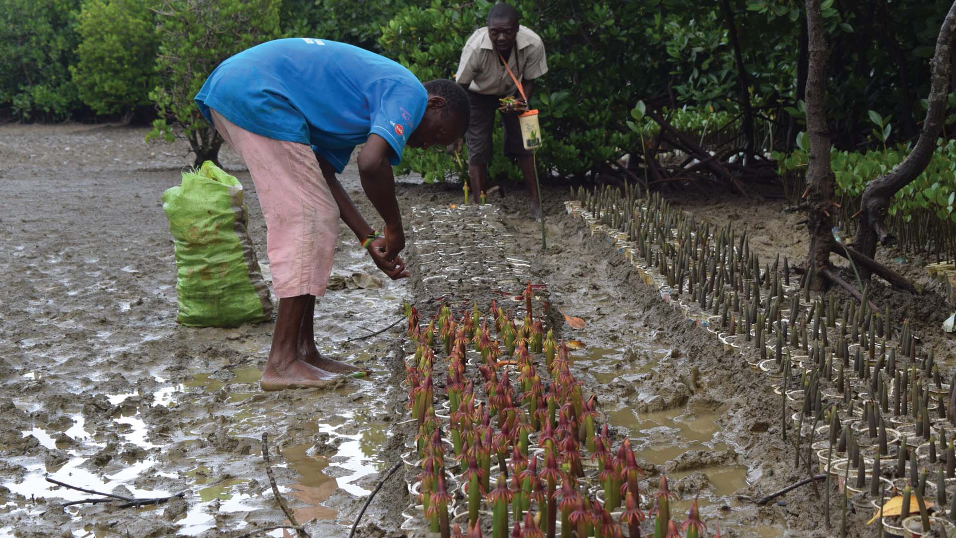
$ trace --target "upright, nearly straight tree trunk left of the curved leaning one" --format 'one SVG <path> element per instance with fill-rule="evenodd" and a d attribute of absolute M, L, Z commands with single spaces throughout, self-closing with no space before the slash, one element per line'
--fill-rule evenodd
<path fill-rule="evenodd" d="M 830 267 L 833 247 L 834 172 L 830 168 L 830 133 L 827 126 L 826 87 L 827 49 L 826 29 L 820 13 L 820 0 L 806 0 L 807 38 L 810 56 L 807 73 L 807 133 L 810 135 L 810 164 L 807 167 L 807 228 L 810 231 L 810 251 L 807 256 L 807 274 L 812 289 L 826 290 L 829 281 L 824 278 Z"/>

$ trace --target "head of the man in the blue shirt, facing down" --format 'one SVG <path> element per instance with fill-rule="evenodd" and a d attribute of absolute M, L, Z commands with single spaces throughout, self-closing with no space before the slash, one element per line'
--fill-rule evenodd
<path fill-rule="evenodd" d="M 424 83 L 428 105 L 419 123 L 408 137 L 407 146 L 447 146 L 461 138 L 468 128 L 468 94 L 454 80 L 435 78 Z"/>

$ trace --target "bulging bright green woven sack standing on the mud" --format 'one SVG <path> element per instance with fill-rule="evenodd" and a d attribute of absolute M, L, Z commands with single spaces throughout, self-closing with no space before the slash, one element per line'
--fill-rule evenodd
<path fill-rule="evenodd" d="M 247 230 L 242 184 L 211 161 L 163 192 L 176 248 L 176 320 L 233 327 L 272 316 L 269 287 Z"/>

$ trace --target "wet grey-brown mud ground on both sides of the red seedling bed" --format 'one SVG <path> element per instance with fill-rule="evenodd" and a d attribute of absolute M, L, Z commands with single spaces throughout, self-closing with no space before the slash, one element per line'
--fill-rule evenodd
<path fill-rule="evenodd" d="M 373 370 L 371 380 L 261 392 L 272 324 L 175 323 L 175 260 L 160 195 L 178 184 L 189 161 L 182 145 L 144 145 L 144 133 L 0 127 L 0 269 L 7 280 L 0 287 L 0 535 L 209 537 L 279 525 L 284 518 L 261 459 L 260 437 L 269 433 L 276 481 L 297 518 L 312 520 L 313 536 L 347 536 L 362 498 L 413 432 L 399 424 L 401 331 L 346 340 L 399 319 L 402 299 L 424 304 L 427 270 L 382 289 L 333 291 L 317 304 L 320 349 Z M 266 261 L 249 175 L 234 155 L 224 153 L 223 162 L 247 188 L 250 234 Z M 341 179 L 358 189 L 354 168 Z M 699 495 L 711 529 L 719 523 L 725 536 L 833 535 L 809 487 L 759 509 L 735 498 L 756 498 L 806 476 L 780 440 L 779 397 L 766 377 L 731 360 L 716 338 L 663 305 L 623 258 L 564 215 L 566 192 L 555 186 L 545 193 L 545 250 L 537 225 L 523 217 L 520 190 L 489 201 L 501 207 L 514 256 L 529 260 L 533 280 L 548 284 L 551 305 L 585 320 L 584 329 L 573 330 L 551 318 L 558 337 L 585 344 L 576 368 L 615 436 L 633 437 L 641 448 L 645 486 L 667 473 L 684 499 L 681 519 Z M 413 206 L 458 203 L 461 192 L 411 180 L 399 195 L 409 214 Z M 364 198 L 354 197 L 370 215 Z M 685 202 L 721 223 L 735 218 L 728 200 Z M 766 219 L 768 227 L 773 211 L 737 214 Z M 769 252 L 791 249 L 798 257 L 795 234 L 767 234 Z M 342 227 L 334 271 L 375 275 L 354 241 Z M 409 249 L 409 260 L 421 255 Z M 44 482 L 47 474 L 123 495 L 185 497 L 140 509 L 63 508 L 89 495 Z M 360 535 L 401 534 L 410 502 L 404 487 L 399 479 L 387 482 Z M 838 516 L 834 521 L 838 526 Z M 876 532 L 854 526 L 851 535 Z"/>

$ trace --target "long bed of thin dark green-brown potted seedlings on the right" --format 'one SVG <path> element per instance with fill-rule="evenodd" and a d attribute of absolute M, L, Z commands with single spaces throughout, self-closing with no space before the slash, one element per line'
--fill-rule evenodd
<path fill-rule="evenodd" d="M 794 464 L 845 483 L 844 507 L 873 510 L 889 535 L 956 535 L 956 374 L 944 383 L 908 321 L 893 325 L 865 291 L 859 303 L 815 297 L 791 283 L 786 258 L 762 264 L 746 234 L 711 233 L 659 195 L 578 191 L 566 205 L 664 301 L 771 376 Z"/>

